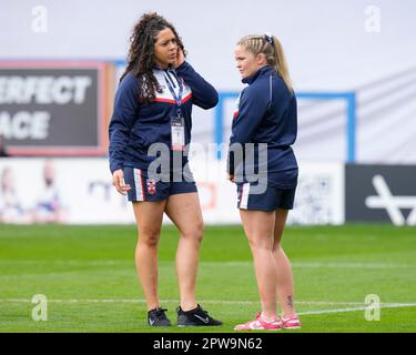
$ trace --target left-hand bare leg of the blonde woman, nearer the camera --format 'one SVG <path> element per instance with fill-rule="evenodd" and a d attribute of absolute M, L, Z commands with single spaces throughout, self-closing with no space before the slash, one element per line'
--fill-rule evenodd
<path fill-rule="evenodd" d="M 240 210 L 244 231 L 253 253 L 263 315 L 276 317 L 276 266 L 273 260 L 274 212 Z"/>

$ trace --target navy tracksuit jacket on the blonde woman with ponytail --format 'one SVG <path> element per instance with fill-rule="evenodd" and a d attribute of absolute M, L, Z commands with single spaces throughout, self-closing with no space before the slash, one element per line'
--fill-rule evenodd
<path fill-rule="evenodd" d="M 230 145 L 254 143 L 254 172 L 258 170 L 258 143 L 267 143 L 267 184 L 278 189 L 293 189 L 297 184 L 297 162 L 291 145 L 297 134 L 296 97 L 287 89 L 275 69 L 266 65 L 243 79 L 247 83 L 234 113 Z M 242 169 L 242 160 L 229 152 L 229 173 Z M 264 168 L 264 166 L 263 166 Z M 246 182 L 244 166 L 243 182 Z"/>

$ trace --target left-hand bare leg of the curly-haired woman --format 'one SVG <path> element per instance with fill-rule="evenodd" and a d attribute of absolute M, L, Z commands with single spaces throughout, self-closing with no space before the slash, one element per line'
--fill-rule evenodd
<path fill-rule="evenodd" d="M 159 307 L 158 246 L 166 201 L 133 202 L 139 241 L 135 248 L 135 267 L 142 284 L 148 311 Z"/>

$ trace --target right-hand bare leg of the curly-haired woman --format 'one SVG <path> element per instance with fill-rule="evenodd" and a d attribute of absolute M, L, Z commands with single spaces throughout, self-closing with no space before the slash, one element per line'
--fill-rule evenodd
<path fill-rule="evenodd" d="M 176 274 L 181 294 L 181 308 L 196 307 L 195 284 L 203 236 L 203 220 L 197 193 L 171 195 L 166 214 L 181 233 L 176 250 Z"/>

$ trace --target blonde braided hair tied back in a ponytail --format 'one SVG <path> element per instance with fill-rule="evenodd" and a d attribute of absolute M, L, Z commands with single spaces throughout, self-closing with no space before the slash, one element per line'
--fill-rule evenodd
<path fill-rule="evenodd" d="M 282 43 L 275 36 L 258 36 L 251 34 L 243 37 L 239 43 L 254 55 L 263 53 L 266 58 L 267 64 L 274 67 L 276 72 L 281 75 L 287 89 L 293 91 L 293 84 L 288 74 L 288 67 L 286 57 L 283 51 Z"/>

